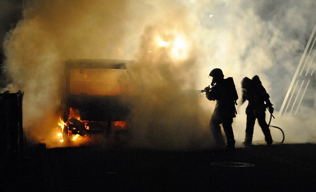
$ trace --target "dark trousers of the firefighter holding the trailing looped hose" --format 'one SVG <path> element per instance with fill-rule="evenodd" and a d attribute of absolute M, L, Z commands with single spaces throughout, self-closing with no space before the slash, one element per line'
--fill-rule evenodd
<path fill-rule="evenodd" d="M 247 122 L 246 122 L 246 137 L 245 144 L 251 145 L 253 129 L 255 125 L 256 118 L 262 129 L 263 134 L 265 135 L 265 141 L 268 145 L 272 144 L 273 140 L 271 137 L 269 125 L 266 122 L 266 113 L 265 112 L 256 112 L 254 110 L 249 110 L 247 112 Z"/>

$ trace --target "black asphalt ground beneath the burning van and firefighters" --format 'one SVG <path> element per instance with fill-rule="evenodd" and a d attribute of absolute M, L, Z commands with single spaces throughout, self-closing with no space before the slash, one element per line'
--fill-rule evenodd
<path fill-rule="evenodd" d="M 11 170 L 11 171 L 10 171 Z M 28 147 L 1 191 L 310 192 L 316 190 L 316 144 L 222 150 L 158 151 L 99 146 Z"/>

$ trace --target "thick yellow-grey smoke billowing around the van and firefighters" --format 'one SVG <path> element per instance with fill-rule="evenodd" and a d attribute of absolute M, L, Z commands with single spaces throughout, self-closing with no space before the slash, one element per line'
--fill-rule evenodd
<path fill-rule="evenodd" d="M 58 129 L 65 60 L 134 59 L 130 70 L 142 91 L 133 103 L 131 144 L 211 147 L 214 102 L 194 90 L 210 83 L 211 69 L 221 68 L 234 77 L 241 97 L 241 79 L 258 75 L 277 113 L 315 25 L 315 8 L 314 0 L 36 1 L 4 43 L 11 91 L 25 92 L 29 137 L 48 142 Z M 245 107 L 237 106 L 234 119 L 237 143 L 244 137 Z M 315 142 L 315 108 L 302 110 L 302 116 L 272 120 L 285 142 Z M 280 133 L 272 132 L 277 141 Z M 254 137 L 263 140 L 258 126 Z"/>

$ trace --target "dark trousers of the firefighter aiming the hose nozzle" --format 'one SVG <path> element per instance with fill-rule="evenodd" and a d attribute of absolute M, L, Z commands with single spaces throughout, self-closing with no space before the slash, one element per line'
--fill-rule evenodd
<path fill-rule="evenodd" d="M 220 124 L 222 124 L 227 139 L 227 146 L 235 148 L 235 138 L 232 123 L 233 117 L 225 117 L 219 114 L 218 110 L 215 108 L 214 113 L 210 119 L 209 125 L 212 136 L 215 140 L 216 147 L 222 148 L 225 146 L 225 141 L 220 126 Z"/>

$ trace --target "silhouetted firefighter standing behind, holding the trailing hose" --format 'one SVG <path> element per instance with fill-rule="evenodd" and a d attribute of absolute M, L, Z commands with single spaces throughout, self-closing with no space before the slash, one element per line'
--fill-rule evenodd
<path fill-rule="evenodd" d="M 265 135 L 265 141 L 267 145 L 273 143 L 270 133 L 269 125 L 266 122 L 266 108 L 273 114 L 274 108 L 270 102 L 270 96 L 266 89 L 263 87 L 258 76 L 244 77 L 241 80 L 242 99 L 241 104 L 248 100 L 248 106 L 246 108 L 247 122 L 245 131 L 244 145 L 248 146 L 252 144 L 253 129 L 255 120 L 258 119 L 258 123 Z"/>

